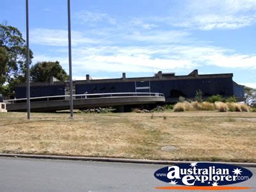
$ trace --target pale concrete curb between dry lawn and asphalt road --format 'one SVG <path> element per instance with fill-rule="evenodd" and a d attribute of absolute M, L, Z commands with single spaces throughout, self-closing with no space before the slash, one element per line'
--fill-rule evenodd
<path fill-rule="evenodd" d="M 70 160 L 70 161 L 102 161 L 102 162 L 116 162 L 116 163 L 142 163 L 142 164 L 179 164 L 179 163 L 193 163 L 197 161 L 161 161 L 161 160 L 147 160 L 147 159 L 123 159 L 123 158 L 106 158 L 106 157 L 72 157 L 72 156 L 43 156 L 30 154 L 0 154 L 0 157 L 20 157 L 32 159 L 56 159 L 56 160 Z M 231 162 L 212 162 L 202 161 L 205 163 L 225 163 L 233 164 L 242 167 L 256 167 L 256 163 L 231 163 Z"/>

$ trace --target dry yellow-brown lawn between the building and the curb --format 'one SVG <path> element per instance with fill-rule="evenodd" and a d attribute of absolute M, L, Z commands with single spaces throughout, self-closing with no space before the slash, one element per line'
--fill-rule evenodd
<path fill-rule="evenodd" d="M 256 113 L 0 113 L 0 152 L 256 162 Z M 165 118 L 164 118 L 165 116 Z M 166 152 L 161 147 L 177 150 Z"/>

